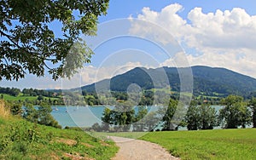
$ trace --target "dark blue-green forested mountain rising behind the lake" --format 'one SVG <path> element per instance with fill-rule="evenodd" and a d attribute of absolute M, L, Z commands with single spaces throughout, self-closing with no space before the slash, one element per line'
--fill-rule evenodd
<path fill-rule="evenodd" d="M 142 89 L 163 89 L 170 84 L 172 91 L 180 89 L 178 71 L 187 68 L 161 67 L 146 69 L 137 67 L 124 74 L 105 79 L 82 87 L 86 92 L 97 90 L 126 91 L 129 85 L 136 83 Z M 220 95 L 228 94 L 248 95 L 256 91 L 256 79 L 230 71 L 225 68 L 212 68 L 208 66 L 192 66 L 193 92 L 195 95 Z M 183 75 L 186 76 L 186 75 Z M 186 77 L 184 78 L 186 80 Z"/>

